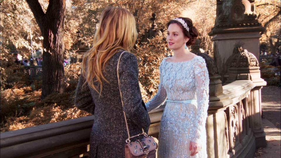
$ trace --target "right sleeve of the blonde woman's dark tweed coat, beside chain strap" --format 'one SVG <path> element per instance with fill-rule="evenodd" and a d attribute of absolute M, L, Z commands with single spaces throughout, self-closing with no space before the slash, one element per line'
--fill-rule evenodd
<path fill-rule="evenodd" d="M 150 119 L 145 109 L 138 83 L 138 63 L 136 56 L 128 52 L 123 53 L 120 59 L 118 73 L 124 105 L 123 109 L 127 119 L 133 121 L 140 128 L 149 127 Z"/>

